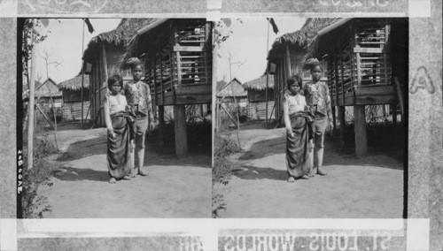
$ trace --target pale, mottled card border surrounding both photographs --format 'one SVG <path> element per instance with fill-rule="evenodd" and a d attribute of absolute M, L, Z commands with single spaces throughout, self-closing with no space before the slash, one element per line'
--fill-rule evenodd
<path fill-rule="evenodd" d="M 40 1 L 40 2 L 39 2 Z M 55 1 L 55 0 L 53 0 Z M 141 1 L 141 0 L 137 0 Z M 137 1 L 127 1 L 128 3 L 136 3 Z M 255 0 L 245 1 L 251 3 Z M 292 0 L 294 4 L 303 2 L 301 0 Z M 149 218 L 149 219 L 0 219 L 0 249 L 15 250 L 18 248 L 19 240 L 31 239 L 52 239 L 52 238 L 134 238 L 134 237 L 156 237 L 156 236 L 177 236 L 190 237 L 190 241 L 183 239 L 184 242 L 176 246 L 179 250 L 392 250 L 393 247 L 400 247 L 402 250 L 441 250 L 443 243 L 432 242 L 433 238 L 442 239 L 442 225 L 437 226 L 439 236 L 431 236 L 430 216 L 431 203 L 429 202 L 429 194 L 432 187 L 429 187 L 431 175 L 438 175 L 442 179 L 442 173 L 430 173 L 427 167 L 422 167 L 422 160 L 425 160 L 428 166 L 443 163 L 443 142 L 431 143 L 431 139 L 436 139 L 435 135 L 442 139 L 441 121 L 443 114 L 442 95 L 441 95 L 441 30 L 439 30 L 439 44 L 428 42 L 426 34 L 418 37 L 417 33 L 421 27 L 429 25 L 433 20 L 439 21 L 441 27 L 441 2 L 439 0 L 404 0 L 407 4 L 407 12 L 362 12 L 359 11 L 363 4 L 389 4 L 394 0 L 316 0 L 324 3 L 323 11 L 313 12 L 273 12 L 272 10 L 261 10 L 263 12 L 248 12 L 247 10 L 238 10 L 238 12 L 223 12 L 222 0 L 202 0 L 192 1 L 200 4 L 206 4 L 203 12 L 174 12 L 181 11 L 181 4 L 186 1 L 167 1 L 169 4 L 176 4 L 170 10 L 173 12 L 150 12 L 141 13 L 115 13 L 102 12 L 105 4 L 113 2 L 111 0 L 101 0 L 102 5 L 95 6 L 92 1 L 67 1 L 58 0 L 57 4 L 50 6 L 36 6 L 35 4 L 49 3 L 51 1 L 43 0 L 21 0 L 19 4 L 14 0 L 0 1 L 0 17 L 4 19 L 16 19 L 17 17 L 97 17 L 97 18 L 114 18 L 114 17 L 171 17 L 171 18 L 190 18 L 200 17 L 210 20 L 220 20 L 230 17 L 369 17 L 369 16 L 386 16 L 386 17 L 409 17 L 410 28 L 410 49 L 409 49 L 409 87 L 413 85 L 414 76 L 420 66 L 424 66 L 430 72 L 434 79 L 433 85 L 437 91 L 434 94 L 425 93 L 425 90 L 419 90 L 416 95 L 409 95 L 409 107 L 419 106 L 423 100 L 431 100 L 432 103 L 439 103 L 440 106 L 433 110 L 414 110 L 409 113 L 409 136 L 408 136 L 408 219 L 213 219 L 213 218 Z M 89 4 L 90 11 L 82 13 L 73 13 L 69 9 L 62 6 L 63 4 L 73 4 L 74 2 L 83 2 Z M 174 3 L 176 2 L 176 3 Z M 272 4 L 263 4 L 266 1 L 257 1 L 260 6 L 270 6 Z M 268 1 L 272 2 L 272 1 Z M 274 1 L 276 2 L 276 1 Z M 277 1 L 278 2 L 278 1 Z M 279 1 L 281 3 L 289 3 L 286 0 Z M 290 1 L 291 2 L 291 1 Z M 402 3 L 403 3 L 402 2 Z M 328 12 L 328 6 L 337 7 L 343 4 L 344 12 Z M 397 1 L 397 3 L 400 3 Z M 334 5 L 336 4 L 336 5 Z M 345 4 L 348 4 L 346 7 Z M 356 4 L 356 5 L 355 5 Z M 435 6 L 439 4 L 440 10 L 436 10 Z M 158 3 L 159 6 L 152 10 L 167 10 L 165 4 Z M 26 7 L 27 6 L 27 7 Z M 31 7 L 29 7 L 31 6 Z M 55 7 L 54 7 L 55 6 Z M 85 5 L 87 6 L 87 5 Z M 381 6 L 381 5 L 380 5 Z M 161 8 L 163 7 L 163 8 Z M 65 8 L 65 9 L 64 9 Z M 36 11 L 34 11 L 36 10 Z M 67 11 L 66 11 L 67 10 Z M 129 10 L 129 9 L 128 9 Z M 19 12 L 21 11 L 21 12 Z M 109 11 L 109 10 L 106 10 Z M 118 10 L 117 10 L 118 11 Z M 434 13 L 439 13 L 439 19 L 435 19 Z M 432 18 L 433 17 L 433 18 Z M 0 26 L 2 19 L 0 19 Z M 14 35 L 15 35 L 15 31 Z M 15 44 L 15 42 L 13 42 Z M 4 46 L 2 44 L 2 46 Z M 424 50 L 424 49 L 436 50 Z M 8 49 L 7 45 L 3 49 Z M 15 52 L 14 52 L 15 53 Z M 439 58 L 429 60 L 434 54 Z M 1 52 L 2 58 L 4 52 Z M 15 59 L 12 59 L 15 60 Z M 2 110 L 4 111 L 4 110 Z M 11 111 L 10 111 L 11 112 Z M 4 118 L 2 118 L 4 119 Z M 14 120 L 15 121 L 15 120 Z M 416 133 L 414 130 L 420 123 L 424 123 L 424 132 Z M 437 122 L 436 122 L 437 121 Z M 438 123 L 439 121 L 439 123 Z M 427 123 L 429 122 L 429 123 Z M 3 124 L 2 124 L 3 125 Z M 434 125 L 435 127 L 431 127 Z M 1 128 L 3 131 L 3 128 Z M 9 132 L 2 132 L 2 136 Z M 14 134 L 15 135 L 15 134 Z M 427 141 L 423 141 L 420 137 L 424 136 Z M 420 154 L 415 152 L 417 147 L 424 148 Z M 13 159 L 15 156 L 4 155 L 0 153 L 2 159 Z M 6 161 L 4 161 L 7 164 Z M 11 166 L 1 165 L 2 173 L 11 172 Z M 441 168 L 440 168 L 441 170 Z M 13 171 L 15 176 L 15 171 Z M 4 191 L 13 191 L 15 188 L 4 187 L 2 184 L 11 184 L 3 182 L 7 175 L 0 178 L 1 193 Z M 211 182 L 208 180 L 208 182 Z M 443 183 L 443 182 L 442 182 Z M 8 192 L 9 193 L 9 192 Z M 443 201 L 441 199 L 440 201 Z M 4 209 L 4 208 L 2 208 Z M 302 246 L 296 244 L 283 244 L 285 237 L 299 238 Z M 359 241 L 363 238 L 365 241 Z M 198 240 L 198 241 L 195 241 Z M 345 241 L 346 240 L 346 241 Z M 384 241 L 385 240 L 385 241 Z M 389 241 L 388 241 L 389 240 Z M 395 241 L 394 241 L 395 240 Z M 327 246 L 332 245 L 334 247 Z M 396 242 L 397 241 L 397 242 Z M 393 246 L 388 244 L 392 242 Z M 369 243 L 369 244 L 368 244 Z M 280 246 L 277 248 L 276 244 Z M 297 244 L 297 245 L 298 245 Z M 287 245 L 287 247 L 283 246 Z M 346 246 L 345 246 L 346 245 Z M 357 245 L 357 246 L 355 246 Z M 35 247 L 41 249 L 42 247 Z M 54 247 L 57 249 L 57 247 Z M 149 247 L 146 247 L 149 249 Z M 172 248 L 172 247 L 171 247 Z M 174 247 L 175 248 L 175 247 Z M 174 250 L 169 249 L 169 250 Z M 284 249 L 283 249 L 284 248 Z"/>

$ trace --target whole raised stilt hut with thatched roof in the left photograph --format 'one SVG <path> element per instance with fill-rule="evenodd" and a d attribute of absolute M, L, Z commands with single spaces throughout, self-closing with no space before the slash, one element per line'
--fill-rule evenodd
<path fill-rule="evenodd" d="M 174 109 L 175 153 L 188 151 L 186 106 L 203 110 L 212 103 L 212 29 L 206 19 L 157 19 L 140 27 L 121 62 L 144 62 L 144 80 L 159 113 L 159 141 L 164 144 L 165 106 Z"/>

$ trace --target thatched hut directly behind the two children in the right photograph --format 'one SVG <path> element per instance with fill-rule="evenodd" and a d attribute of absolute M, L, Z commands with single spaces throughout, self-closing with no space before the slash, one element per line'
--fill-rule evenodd
<path fill-rule="evenodd" d="M 276 95 L 276 118 L 283 115 L 283 96 L 287 91 L 286 80 L 292 75 L 299 74 L 303 81 L 311 80 L 310 72 L 303 70 L 303 58 L 307 54 L 307 46 L 315 38 L 315 35 L 323 27 L 327 27 L 339 19 L 307 19 L 299 31 L 284 34 L 276 39 L 268 53 L 268 65 L 276 65 L 275 95 Z M 269 67 L 271 68 L 271 67 Z M 327 66 L 323 63 L 323 69 Z M 326 81 L 326 73 L 323 72 L 321 80 Z"/>

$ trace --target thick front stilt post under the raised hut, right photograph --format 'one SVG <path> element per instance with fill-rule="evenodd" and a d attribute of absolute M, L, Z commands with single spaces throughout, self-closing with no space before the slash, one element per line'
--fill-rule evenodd
<path fill-rule="evenodd" d="M 354 133 L 355 154 L 363 156 L 368 153 L 368 142 L 366 140 L 366 116 L 364 105 L 354 105 Z"/>

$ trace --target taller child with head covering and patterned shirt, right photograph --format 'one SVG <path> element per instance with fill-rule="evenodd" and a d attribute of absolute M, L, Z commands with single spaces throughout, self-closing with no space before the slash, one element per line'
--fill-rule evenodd
<path fill-rule="evenodd" d="M 323 141 L 324 132 L 332 128 L 332 112 L 330 108 L 330 91 L 325 82 L 320 81 L 323 68 L 316 58 L 307 59 L 305 68 L 311 71 L 312 81 L 303 87 L 308 109 L 315 115 L 314 152 L 310 152 L 310 161 L 314 171 L 326 175 L 323 170 Z M 314 165 L 314 155 L 316 163 Z"/>

